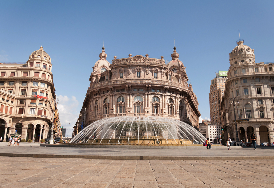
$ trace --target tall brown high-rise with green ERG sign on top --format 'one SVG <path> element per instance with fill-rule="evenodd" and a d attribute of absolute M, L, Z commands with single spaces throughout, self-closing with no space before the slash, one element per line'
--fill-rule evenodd
<path fill-rule="evenodd" d="M 210 93 L 209 93 L 209 107 L 210 107 L 210 121 L 214 125 L 223 127 L 223 111 L 221 111 L 221 102 L 225 92 L 225 81 L 227 80 L 227 71 L 216 72 L 216 77 L 210 82 Z"/>

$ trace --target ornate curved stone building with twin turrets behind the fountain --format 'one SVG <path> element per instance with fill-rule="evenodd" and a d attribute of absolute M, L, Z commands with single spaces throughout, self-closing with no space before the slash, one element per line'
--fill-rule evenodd
<path fill-rule="evenodd" d="M 191 84 L 187 84 L 186 67 L 178 59 L 175 47 L 169 63 L 163 56 L 155 59 L 148 54 L 129 54 L 121 59 L 114 56 L 109 63 L 102 49 L 81 110 L 84 126 L 107 117 L 159 116 L 198 128 L 197 97 Z"/>

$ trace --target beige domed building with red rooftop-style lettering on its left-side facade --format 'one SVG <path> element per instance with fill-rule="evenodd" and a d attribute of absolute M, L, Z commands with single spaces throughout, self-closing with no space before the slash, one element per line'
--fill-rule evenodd
<path fill-rule="evenodd" d="M 15 130 L 22 139 L 47 138 L 55 98 L 52 63 L 41 46 L 26 63 L 0 63 L 0 134 Z"/>

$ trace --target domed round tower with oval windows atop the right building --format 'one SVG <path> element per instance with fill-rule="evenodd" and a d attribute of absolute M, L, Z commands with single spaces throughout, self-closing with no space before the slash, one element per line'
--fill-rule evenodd
<path fill-rule="evenodd" d="M 239 65 L 255 64 L 254 49 L 244 45 L 244 40 L 237 41 L 237 45 L 231 53 L 229 53 L 230 68 Z"/>

